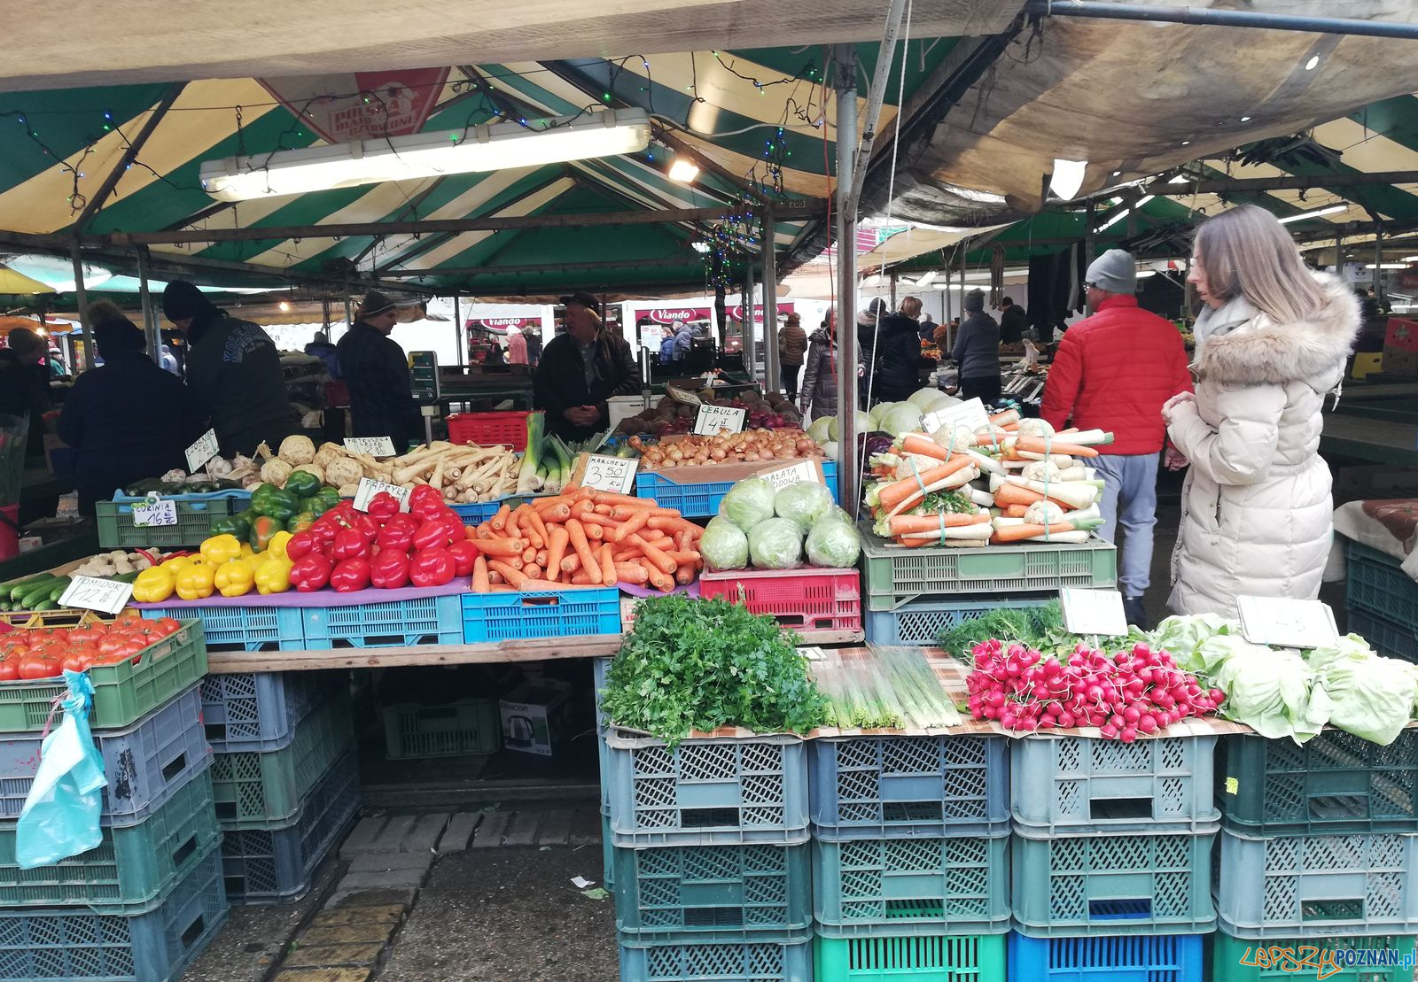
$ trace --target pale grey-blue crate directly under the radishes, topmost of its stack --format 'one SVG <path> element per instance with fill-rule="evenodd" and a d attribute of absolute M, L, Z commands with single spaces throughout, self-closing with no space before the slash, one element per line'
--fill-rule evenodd
<path fill-rule="evenodd" d="M 1124 744 L 1027 737 L 1010 744 L 1014 818 L 1059 833 L 1191 832 L 1221 818 L 1212 786 L 1215 737 Z"/>

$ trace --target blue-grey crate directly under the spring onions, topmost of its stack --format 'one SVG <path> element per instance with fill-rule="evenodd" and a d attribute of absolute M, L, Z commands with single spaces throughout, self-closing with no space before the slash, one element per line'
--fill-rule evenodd
<path fill-rule="evenodd" d="M 1008 832 L 1008 737 L 813 740 L 813 826 L 832 836 Z"/>

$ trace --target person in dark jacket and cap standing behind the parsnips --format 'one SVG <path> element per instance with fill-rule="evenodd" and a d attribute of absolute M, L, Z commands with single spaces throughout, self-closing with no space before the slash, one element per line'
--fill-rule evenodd
<path fill-rule="evenodd" d="M 353 436 L 389 436 L 394 453 L 418 439 L 420 417 L 408 377 L 408 356 L 389 334 L 398 323 L 394 302 L 379 290 L 364 295 L 354 323 L 335 346 L 350 390 Z M 501 347 L 495 350 L 501 353 Z"/>

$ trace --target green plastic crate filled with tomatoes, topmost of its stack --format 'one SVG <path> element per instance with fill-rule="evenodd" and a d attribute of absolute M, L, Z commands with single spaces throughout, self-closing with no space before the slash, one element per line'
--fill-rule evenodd
<path fill-rule="evenodd" d="M 207 638 L 200 621 L 187 621 L 162 640 L 118 665 L 95 665 L 95 730 L 121 730 L 177 697 L 207 675 Z M 60 682 L 0 682 L 0 733 L 35 733 L 52 726 L 54 701 L 68 694 Z"/>

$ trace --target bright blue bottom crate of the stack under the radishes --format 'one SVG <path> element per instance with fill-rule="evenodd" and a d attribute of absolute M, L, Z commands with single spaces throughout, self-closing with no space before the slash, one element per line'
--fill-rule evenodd
<path fill-rule="evenodd" d="M 1201 982 L 1200 934 L 1010 935 L 1010 982 Z"/>

